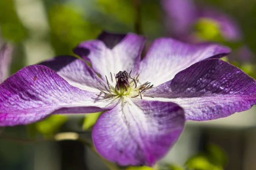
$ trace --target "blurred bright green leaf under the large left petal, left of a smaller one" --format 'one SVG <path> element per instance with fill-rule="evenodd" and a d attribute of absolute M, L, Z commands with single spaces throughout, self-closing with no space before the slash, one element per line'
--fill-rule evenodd
<path fill-rule="evenodd" d="M 35 127 L 40 133 L 49 136 L 55 134 L 65 122 L 67 122 L 67 116 L 56 114 L 36 122 Z"/>

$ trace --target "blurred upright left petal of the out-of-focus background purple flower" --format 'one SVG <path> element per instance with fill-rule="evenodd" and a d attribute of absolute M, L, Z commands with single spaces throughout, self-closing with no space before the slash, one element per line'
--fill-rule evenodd
<path fill-rule="evenodd" d="M 197 9 L 192 0 L 161 0 L 167 14 L 166 24 L 175 37 L 183 37 L 192 30 Z M 169 24 L 171 23 L 171 24 Z"/>

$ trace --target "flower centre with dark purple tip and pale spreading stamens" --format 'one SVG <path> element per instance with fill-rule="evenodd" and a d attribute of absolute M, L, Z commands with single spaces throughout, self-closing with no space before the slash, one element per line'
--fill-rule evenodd
<path fill-rule="evenodd" d="M 114 83 L 112 73 L 110 73 L 110 75 L 111 75 L 111 82 Z M 143 95 L 143 92 L 152 88 L 153 85 L 151 85 L 150 82 L 145 82 L 141 84 L 139 81 L 140 74 L 138 74 L 135 77 L 131 77 L 131 71 L 130 73 L 128 73 L 127 71 L 119 71 L 116 75 L 115 74 L 113 75 L 116 80 L 115 87 L 110 85 L 110 83 L 108 82 L 107 76 L 105 76 L 108 87 L 100 83 L 103 88 L 102 89 L 98 88 L 100 90 L 100 94 L 96 94 L 97 96 L 105 99 L 106 98 L 113 98 L 113 99 L 123 98 L 125 99 L 124 101 L 126 101 L 128 97 L 129 98 L 140 97 L 140 99 L 142 99 L 143 96 L 152 97 L 148 95 Z"/>

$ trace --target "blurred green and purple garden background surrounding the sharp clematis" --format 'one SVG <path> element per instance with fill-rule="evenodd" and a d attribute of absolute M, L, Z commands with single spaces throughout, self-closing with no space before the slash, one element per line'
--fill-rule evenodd
<path fill-rule="evenodd" d="M 256 0 L 0 0 L 0 42 L 13 48 L 10 74 L 57 55 L 74 55 L 79 42 L 105 30 L 144 34 L 148 42 L 143 54 L 158 37 L 228 45 L 233 53 L 224 60 L 256 78 L 255 28 Z M 187 122 L 159 164 L 255 170 L 255 112 L 253 107 L 224 119 Z M 1 128 L 0 170 L 107 170 L 81 142 L 55 136 L 73 131 L 90 139 L 98 115 L 56 115 L 28 126 Z M 216 164 L 221 167 L 200 157 L 207 152 L 220 159 Z"/>

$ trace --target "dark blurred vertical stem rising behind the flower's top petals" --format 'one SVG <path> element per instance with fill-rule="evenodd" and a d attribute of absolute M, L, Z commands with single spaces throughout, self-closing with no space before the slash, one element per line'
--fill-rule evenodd
<path fill-rule="evenodd" d="M 133 0 L 135 11 L 134 30 L 137 34 L 143 34 L 141 23 L 141 3 L 140 0 Z"/>

